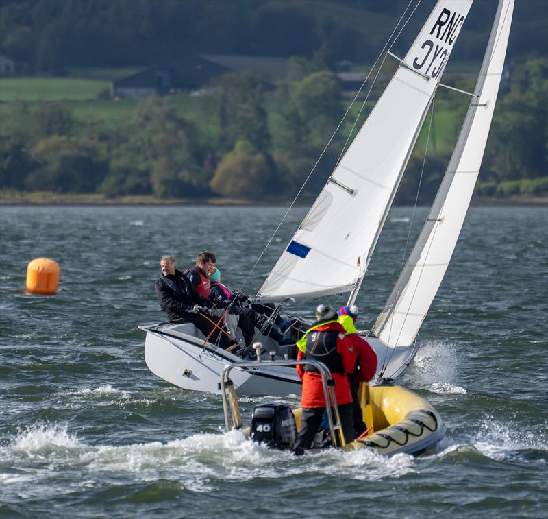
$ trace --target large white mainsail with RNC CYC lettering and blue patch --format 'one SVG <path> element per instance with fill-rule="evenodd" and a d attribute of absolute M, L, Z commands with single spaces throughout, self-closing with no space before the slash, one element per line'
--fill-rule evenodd
<path fill-rule="evenodd" d="M 259 300 L 345 292 L 361 281 L 471 2 L 438 1 Z"/>

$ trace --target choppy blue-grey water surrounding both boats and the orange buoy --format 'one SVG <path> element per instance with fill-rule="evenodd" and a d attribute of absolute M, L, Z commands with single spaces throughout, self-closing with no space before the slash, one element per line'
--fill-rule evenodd
<path fill-rule="evenodd" d="M 404 381 L 448 426 L 435 455 L 296 459 L 223 433 L 220 397 L 147 370 L 136 326 L 164 319 L 153 293 L 160 255 L 185 267 L 208 248 L 238 287 L 283 213 L 0 208 L 1 517 L 546 516 L 545 208 L 469 212 Z M 289 218 L 247 291 L 302 216 Z M 411 217 L 395 208 L 388 218 L 358 299 L 363 328 L 395 282 Z M 22 291 L 39 256 L 61 267 L 51 297 Z"/>

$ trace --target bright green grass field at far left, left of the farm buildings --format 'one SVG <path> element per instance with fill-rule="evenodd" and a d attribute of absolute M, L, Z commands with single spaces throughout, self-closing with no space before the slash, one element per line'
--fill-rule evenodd
<path fill-rule="evenodd" d="M 2 77 L 0 102 L 86 101 L 97 99 L 105 89 L 110 90 L 109 81 L 79 77 Z"/>

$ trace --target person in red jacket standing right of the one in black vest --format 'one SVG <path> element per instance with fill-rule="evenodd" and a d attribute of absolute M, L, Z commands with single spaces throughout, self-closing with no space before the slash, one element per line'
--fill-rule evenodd
<path fill-rule="evenodd" d="M 345 328 L 347 339 L 352 342 L 356 354 L 356 366 L 349 373 L 350 391 L 352 394 L 352 414 L 354 419 L 354 431 L 356 437 L 360 437 L 367 426 L 364 423 L 362 407 L 358 400 L 358 386 L 360 382 L 369 382 L 375 376 L 377 370 L 377 354 L 369 346 L 367 341 L 356 333 L 356 319 L 358 319 L 358 306 L 343 306 L 338 312 L 338 322 Z M 371 424 L 370 424 L 371 425 Z"/>

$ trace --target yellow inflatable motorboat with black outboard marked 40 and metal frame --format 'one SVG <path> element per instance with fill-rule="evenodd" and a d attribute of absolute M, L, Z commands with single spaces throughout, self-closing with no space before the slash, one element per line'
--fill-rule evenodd
<path fill-rule="evenodd" d="M 434 450 L 447 431 L 440 415 L 425 398 L 399 385 L 370 387 L 367 383 L 361 383 L 358 398 L 368 429 L 362 437 L 345 444 L 333 386 L 329 382 L 329 370 L 317 361 L 288 361 L 279 364 L 297 363 L 313 364 L 319 370 L 323 378 L 325 400 L 334 402 L 332 409 L 326 409 L 329 423 L 325 431 L 327 446 L 330 444 L 345 450 L 370 448 L 383 455 L 418 455 Z M 244 367 L 246 363 L 239 364 Z M 229 378 L 231 369 L 232 366 L 227 366 L 223 370 L 220 384 L 227 431 L 242 429 L 238 398 Z M 242 433 L 266 446 L 290 449 L 295 444 L 300 422 L 301 409 L 292 410 L 288 405 L 279 402 L 258 405 L 253 409 L 251 425 L 242 429 Z"/>

